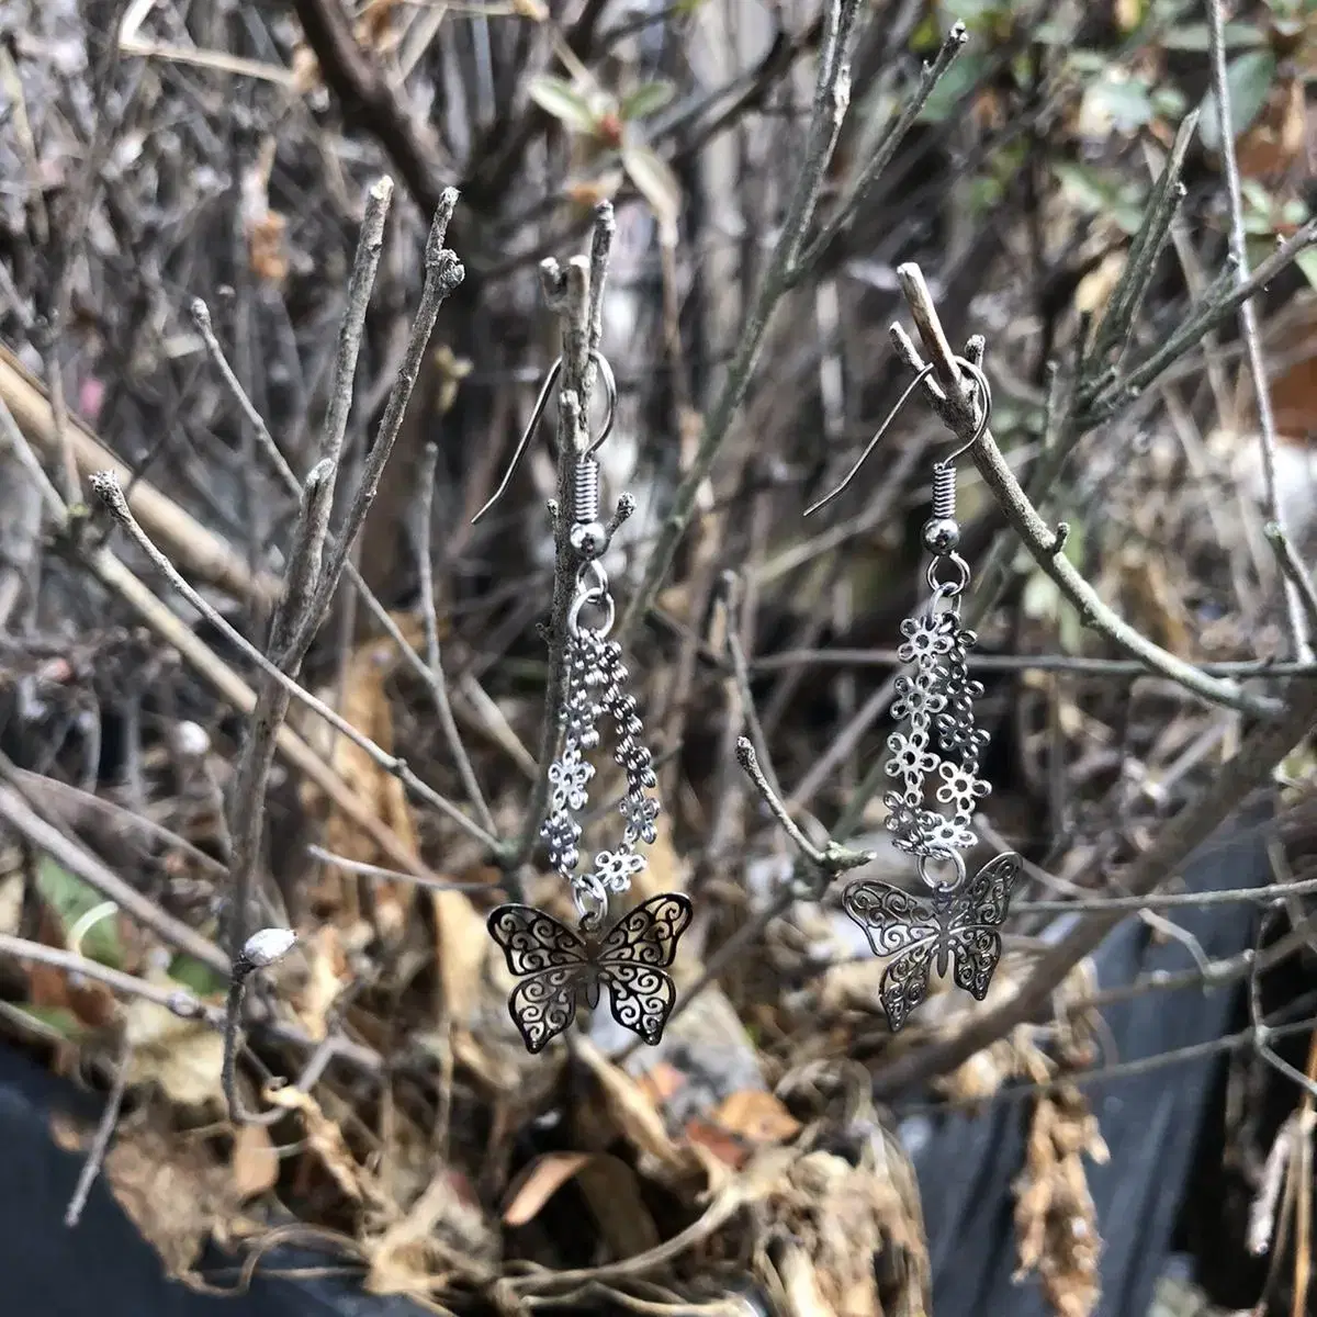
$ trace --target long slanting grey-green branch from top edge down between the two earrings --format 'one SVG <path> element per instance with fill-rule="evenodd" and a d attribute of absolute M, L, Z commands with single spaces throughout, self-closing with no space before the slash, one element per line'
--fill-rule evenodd
<path fill-rule="evenodd" d="M 814 215 L 814 207 L 818 203 L 827 166 L 832 158 L 832 150 L 836 146 L 842 121 L 849 104 L 848 49 L 857 9 L 857 0 L 828 0 L 823 40 L 819 43 L 814 109 L 799 182 L 788 205 L 781 233 L 773 246 L 773 254 L 769 257 L 764 275 L 755 291 L 723 387 L 705 419 L 699 446 L 681 485 L 673 494 L 672 507 L 651 551 L 640 587 L 632 595 L 631 603 L 622 616 L 619 631 L 623 636 L 631 635 L 658 597 L 658 589 L 677 554 L 677 545 L 694 515 L 699 491 L 709 478 L 728 433 L 731 433 L 732 420 L 749 390 L 773 312 L 790 290 L 792 271 Z"/>

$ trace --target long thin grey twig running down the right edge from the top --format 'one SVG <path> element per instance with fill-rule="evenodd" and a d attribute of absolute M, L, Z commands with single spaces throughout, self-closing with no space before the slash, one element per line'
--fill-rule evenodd
<path fill-rule="evenodd" d="M 1239 183 L 1239 163 L 1235 159 L 1234 124 L 1230 113 L 1230 79 L 1226 75 L 1226 20 L 1221 0 L 1206 0 L 1208 7 L 1208 47 L 1212 57 L 1212 94 L 1216 100 L 1218 134 L 1221 137 L 1221 166 L 1226 175 L 1226 199 L 1230 207 L 1230 254 L 1234 258 L 1234 278 L 1237 283 L 1249 279 L 1249 237 L 1243 221 L 1243 190 Z M 1258 435 L 1262 444 L 1263 516 L 1270 524 L 1285 531 L 1280 498 L 1276 486 L 1276 417 L 1271 408 L 1271 386 L 1267 382 L 1267 363 L 1262 356 L 1262 338 L 1258 335 L 1258 312 L 1252 302 L 1239 306 L 1239 333 L 1243 337 L 1245 356 L 1249 362 L 1249 375 L 1252 379 L 1252 395 L 1258 407 Z M 1297 560 L 1296 560 L 1296 565 Z M 1303 576 L 1306 572 L 1299 565 Z M 1285 598 L 1285 618 L 1289 623 L 1289 643 L 1293 656 L 1300 662 L 1312 658 L 1309 644 L 1310 620 L 1305 626 L 1304 605 L 1300 587 L 1289 576 L 1281 578 Z M 1306 597 L 1313 598 L 1312 581 L 1308 582 Z"/>

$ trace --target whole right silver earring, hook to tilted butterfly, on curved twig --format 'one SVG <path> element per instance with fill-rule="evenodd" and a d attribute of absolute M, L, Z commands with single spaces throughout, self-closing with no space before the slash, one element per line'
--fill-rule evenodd
<path fill-rule="evenodd" d="M 934 963 L 942 976 L 954 957 L 956 985 L 979 1001 L 988 996 L 1001 959 L 1000 928 L 1021 872 L 1019 856 L 1006 851 L 969 877 L 963 856 L 977 843 L 975 810 L 992 788 L 980 777 L 988 734 L 975 719 L 975 702 L 984 690 L 969 678 L 967 665 L 977 637 L 960 622 L 969 565 L 956 552 L 960 527 L 955 464 L 988 429 L 992 390 L 972 362 L 957 357 L 956 363 L 976 386 L 980 416 L 969 443 L 932 468 L 932 515 L 923 528 L 923 545 L 932 554 L 926 576 L 930 595 L 914 616 L 901 623 L 905 643 L 897 657 L 906 668 L 896 682 L 892 712 L 898 726 L 888 738 L 886 764 L 888 776 L 898 785 L 882 798 L 893 843 L 917 857 L 928 896 L 877 880 L 856 880 L 842 897 L 846 913 L 864 930 L 873 952 L 892 957 L 878 994 L 893 1031 L 927 994 Z M 915 375 L 846 479 L 807 508 L 806 516 L 851 483 L 931 369 L 925 366 Z M 948 869 L 948 878 L 939 877 L 939 871 Z"/>

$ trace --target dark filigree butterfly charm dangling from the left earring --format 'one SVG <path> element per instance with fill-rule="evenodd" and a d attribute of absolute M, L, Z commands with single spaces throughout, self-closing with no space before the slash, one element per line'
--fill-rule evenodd
<path fill-rule="evenodd" d="M 687 897 L 664 892 L 628 910 L 607 932 L 582 922 L 579 931 L 535 906 L 504 905 L 490 914 L 490 936 L 507 968 L 522 980 L 507 1000 L 529 1052 L 543 1051 L 576 1019 L 577 1000 L 593 1010 L 599 985 L 612 1018 L 653 1046 L 677 1002 L 666 967 L 691 921 Z"/>

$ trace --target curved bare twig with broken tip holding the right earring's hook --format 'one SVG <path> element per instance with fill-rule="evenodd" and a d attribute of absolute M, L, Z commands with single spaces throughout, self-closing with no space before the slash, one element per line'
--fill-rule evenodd
<path fill-rule="evenodd" d="M 965 402 L 964 382 L 956 366 L 951 345 L 947 342 L 932 298 L 928 294 L 923 274 L 917 265 L 902 265 L 897 269 L 897 279 L 910 304 L 919 336 L 932 362 L 934 374 L 942 387 L 942 398 L 934 395 L 935 404 L 943 420 L 955 431 L 961 443 L 975 436 L 976 421 L 972 407 Z M 900 325 L 893 325 L 893 338 L 897 340 L 902 356 L 914 352 L 909 338 Z M 917 356 L 917 354 L 915 354 Z M 1143 661 L 1148 670 L 1179 682 L 1187 690 L 1212 703 L 1223 705 L 1259 716 L 1275 718 L 1281 706 L 1275 699 L 1252 695 L 1234 682 L 1218 681 L 1206 676 L 1200 668 L 1168 653 L 1154 644 L 1122 618 L 1117 616 L 1098 597 L 1097 591 L 1084 579 L 1075 565 L 1062 552 L 1064 533 L 1054 531 L 1039 516 L 1038 510 L 1021 489 L 1019 481 L 1002 457 L 986 427 L 971 449 L 975 465 L 992 490 L 1006 520 L 1023 540 L 1030 556 L 1073 605 L 1080 619 L 1094 631 L 1119 645 L 1126 653 Z"/>

